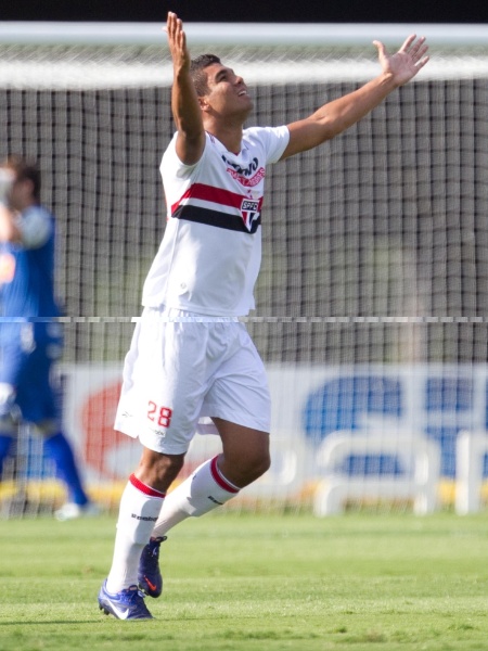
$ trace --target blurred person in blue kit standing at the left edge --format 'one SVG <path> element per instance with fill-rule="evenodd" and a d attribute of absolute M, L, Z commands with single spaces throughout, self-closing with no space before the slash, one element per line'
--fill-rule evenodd
<path fill-rule="evenodd" d="M 18 426 L 28 423 L 43 437 L 68 492 L 55 516 L 69 520 L 98 507 L 81 484 L 57 413 L 52 365 L 63 339 L 53 277 L 54 220 L 40 205 L 38 166 L 10 156 L 0 163 L 0 472 Z"/>

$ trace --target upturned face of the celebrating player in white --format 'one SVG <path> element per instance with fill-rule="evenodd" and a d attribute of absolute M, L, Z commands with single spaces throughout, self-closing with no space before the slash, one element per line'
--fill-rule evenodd
<path fill-rule="evenodd" d="M 206 73 L 208 93 L 205 99 L 214 112 L 222 117 L 237 115 L 245 119 L 253 108 L 253 100 L 244 79 L 220 63 L 209 65 Z"/>

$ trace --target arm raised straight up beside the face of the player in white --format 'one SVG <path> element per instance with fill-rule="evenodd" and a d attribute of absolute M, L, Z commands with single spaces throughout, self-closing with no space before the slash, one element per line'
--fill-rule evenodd
<path fill-rule="evenodd" d="M 172 12 L 168 13 L 166 31 L 174 68 L 171 110 L 178 129 L 176 151 L 182 163 L 193 165 L 202 156 L 205 130 L 195 87 L 190 76 L 191 59 L 183 23 Z"/>

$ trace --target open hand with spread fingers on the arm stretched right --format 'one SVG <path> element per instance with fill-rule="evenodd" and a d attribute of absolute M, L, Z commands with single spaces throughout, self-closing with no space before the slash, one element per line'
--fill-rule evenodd
<path fill-rule="evenodd" d="M 416 38 L 411 34 L 396 54 L 388 54 L 381 41 L 373 41 L 378 54 L 383 73 L 390 75 L 397 86 L 401 86 L 412 79 L 428 61 L 425 53 L 428 46 L 425 37 Z"/>

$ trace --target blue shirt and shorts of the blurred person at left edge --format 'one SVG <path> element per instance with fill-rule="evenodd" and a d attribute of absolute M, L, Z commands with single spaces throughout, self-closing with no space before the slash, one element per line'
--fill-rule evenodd
<path fill-rule="evenodd" d="M 27 207 L 21 218 L 23 229 L 31 228 L 41 237 L 30 247 L 0 243 L 0 383 L 16 387 L 23 418 L 37 422 L 57 416 L 49 382 L 63 343 L 54 294 L 55 226 L 40 205 Z M 29 395 L 29 387 L 36 395 Z"/>

